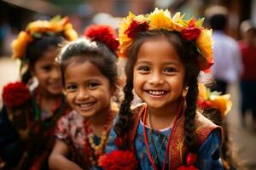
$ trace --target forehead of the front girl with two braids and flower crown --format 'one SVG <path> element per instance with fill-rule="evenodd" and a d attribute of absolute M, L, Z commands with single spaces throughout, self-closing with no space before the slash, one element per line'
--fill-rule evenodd
<path fill-rule="evenodd" d="M 181 63 L 177 50 L 166 38 L 148 39 L 138 49 L 137 62 L 147 60 L 152 62 L 172 61 Z"/>

